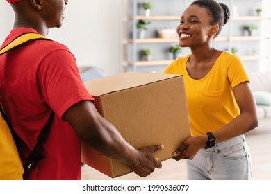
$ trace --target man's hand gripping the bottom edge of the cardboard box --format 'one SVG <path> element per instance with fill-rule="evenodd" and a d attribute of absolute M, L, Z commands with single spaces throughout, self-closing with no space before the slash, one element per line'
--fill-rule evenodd
<path fill-rule="evenodd" d="M 160 161 L 157 161 L 153 157 L 153 153 L 157 150 L 164 148 L 164 145 L 154 145 L 139 150 L 140 157 L 137 166 L 133 167 L 133 172 L 135 172 L 140 177 L 146 177 L 154 172 L 155 168 L 162 168 Z"/>

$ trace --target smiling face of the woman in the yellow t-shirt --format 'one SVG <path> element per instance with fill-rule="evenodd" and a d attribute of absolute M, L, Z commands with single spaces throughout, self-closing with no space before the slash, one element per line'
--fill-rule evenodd
<path fill-rule="evenodd" d="M 176 30 L 181 47 L 195 47 L 210 42 L 212 33 L 211 17 L 205 8 L 189 6 L 181 16 Z"/>

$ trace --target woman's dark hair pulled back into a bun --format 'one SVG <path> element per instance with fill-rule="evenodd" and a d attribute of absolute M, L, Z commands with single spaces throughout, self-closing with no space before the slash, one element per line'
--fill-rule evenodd
<path fill-rule="evenodd" d="M 199 6 L 208 10 L 211 16 L 211 24 L 218 24 L 220 27 L 215 35 L 215 37 L 217 37 L 217 35 L 219 35 L 220 31 L 222 30 L 222 26 L 227 24 L 229 20 L 230 13 L 228 6 L 223 3 L 217 3 L 215 0 L 197 0 L 192 2 L 191 6 L 192 5 Z"/>

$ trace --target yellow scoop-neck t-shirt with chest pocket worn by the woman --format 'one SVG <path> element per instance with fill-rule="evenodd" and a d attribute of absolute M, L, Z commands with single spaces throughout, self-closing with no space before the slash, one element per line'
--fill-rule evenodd
<path fill-rule="evenodd" d="M 222 52 L 211 71 L 195 80 L 186 70 L 188 58 L 174 60 L 163 73 L 183 75 L 191 132 L 199 136 L 219 129 L 240 114 L 233 87 L 249 82 L 249 78 L 237 55 Z"/>

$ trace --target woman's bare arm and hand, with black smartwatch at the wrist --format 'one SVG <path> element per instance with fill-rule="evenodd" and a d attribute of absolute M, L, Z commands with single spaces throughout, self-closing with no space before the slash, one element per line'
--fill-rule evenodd
<path fill-rule="evenodd" d="M 240 115 L 220 129 L 213 131 L 217 142 L 231 139 L 234 136 L 245 134 L 258 126 L 256 103 L 248 82 L 242 82 L 233 88 L 236 101 L 240 108 Z M 173 153 L 174 159 L 192 159 L 199 149 L 204 148 L 208 141 L 206 134 L 202 136 L 189 137 Z"/>

